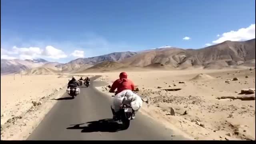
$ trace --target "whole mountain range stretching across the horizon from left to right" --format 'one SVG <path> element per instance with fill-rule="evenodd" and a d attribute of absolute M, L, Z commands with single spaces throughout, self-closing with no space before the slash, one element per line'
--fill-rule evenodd
<path fill-rule="evenodd" d="M 225 41 L 201 49 L 171 46 L 140 52 L 114 52 L 92 58 L 78 58 L 66 64 L 36 60 L 1 59 L 1 74 L 54 74 L 104 72 L 129 69 L 221 69 L 255 66 L 255 39 L 244 42 Z"/>

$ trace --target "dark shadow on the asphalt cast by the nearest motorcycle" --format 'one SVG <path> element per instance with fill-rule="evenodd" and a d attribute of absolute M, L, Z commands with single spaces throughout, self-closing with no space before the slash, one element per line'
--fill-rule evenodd
<path fill-rule="evenodd" d="M 112 119 L 103 119 L 98 121 L 86 122 L 87 126 L 82 124 L 72 124 L 67 129 L 81 129 L 81 132 L 118 132 L 122 130 L 121 124 L 118 124 Z"/>

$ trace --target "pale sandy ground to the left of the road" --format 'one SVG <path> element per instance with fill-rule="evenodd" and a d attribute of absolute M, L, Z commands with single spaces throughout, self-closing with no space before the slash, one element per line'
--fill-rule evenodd
<path fill-rule="evenodd" d="M 66 92 L 70 77 L 2 75 L 1 140 L 26 140 Z"/>

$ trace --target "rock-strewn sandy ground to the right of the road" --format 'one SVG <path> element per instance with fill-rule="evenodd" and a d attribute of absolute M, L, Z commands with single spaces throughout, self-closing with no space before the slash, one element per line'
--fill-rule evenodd
<path fill-rule="evenodd" d="M 103 75 L 98 80 L 112 84 L 119 72 L 92 74 Z M 237 81 L 225 82 L 235 77 Z M 255 100 L 217 99 L 255 88 L 255 69 L 129 72 L 128 78 L 139 88 L 138 95 L 149 101 L 140 111 L 172 129 L 195 140 L 255 140 Z M 106 86 L 98 89 L 109 90 Z M 170 107 L 176 116 L 170 115 Z"/>

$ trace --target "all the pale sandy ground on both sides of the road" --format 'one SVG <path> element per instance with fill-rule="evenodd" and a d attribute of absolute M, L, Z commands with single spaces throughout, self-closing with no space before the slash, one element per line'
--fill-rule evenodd
<path fill-rule="evenodd" d="M 200 73 L 204 75 L 196 77 Z M 119 72 L 81 75 L 102 75 L 99 81 L 112 84 Z M 255 88 L 255 69 L 142 71 L 128 72 L 128 77 L 139 88 L 138 95 L 148 100 L 140 111 L 179 134 L 195 140 L 255 140 L 255 100 L 216 99 Z M 238 80 L 225 82 L 234 77 Z M 57 102 L 53 99 L 66 92 L 68 79 L 66 75 L 16 75 L 15 80 L 13 75 L 1 76 L 1 140 L 26 140 Z M 180 90 L 164 90 L 174 88 Z M 170 107 L 176 116 L 170 115 Z"/>

